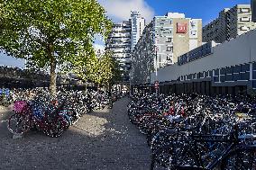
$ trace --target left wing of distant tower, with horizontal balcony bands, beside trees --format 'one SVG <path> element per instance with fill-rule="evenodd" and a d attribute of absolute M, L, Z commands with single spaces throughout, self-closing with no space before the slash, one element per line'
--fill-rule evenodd
<path fill-rule="evenodd" d="M 105 50 L 111 50 L 119 61 L 122 82 L 129 82 L 131 67 L 131 20 L 115 23 L 105 43 Z"/>

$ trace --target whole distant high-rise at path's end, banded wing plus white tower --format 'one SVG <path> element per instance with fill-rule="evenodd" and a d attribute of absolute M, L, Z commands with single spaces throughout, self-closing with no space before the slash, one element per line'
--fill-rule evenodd
<path fill-rule="evenodd" d="M 130 80 L 131 52 L 145 28 L 145 19 L 139 12 L 131 12 L 131 19 L 115 23 L 105 43 L 105 50 L 114 52 L 122 71 L 122 84 Z"/>

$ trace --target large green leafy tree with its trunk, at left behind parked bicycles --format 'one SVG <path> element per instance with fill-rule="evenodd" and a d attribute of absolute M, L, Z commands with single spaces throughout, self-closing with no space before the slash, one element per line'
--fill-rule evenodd
<path fill-rule="evenodd" d="M 94 35 L 106 38 L 112 26 L 96 0 L 3 0 L 0 13 L 0 48 L 50 67 L 51 94 L 57 65 L 82 62 L 78 51 L 91 52 Z"/>

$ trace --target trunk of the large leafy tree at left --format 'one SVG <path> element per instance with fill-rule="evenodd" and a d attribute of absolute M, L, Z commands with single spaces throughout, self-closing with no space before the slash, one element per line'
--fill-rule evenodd
<path fill-rule="evenodd" d="M 56 95 L 56 59 L 54 58 L 53 53 L 53 45 L 50 45 L 50 94 Z"/>

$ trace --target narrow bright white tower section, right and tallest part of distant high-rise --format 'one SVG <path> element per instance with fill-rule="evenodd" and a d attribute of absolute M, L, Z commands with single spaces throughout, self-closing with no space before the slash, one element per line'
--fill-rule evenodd
<path fill-rule="evenodd" d="M 132 34 L 131 34 L 131 43 L 133 50 L 138 40 L 142 36 L 142 31 L 145 28 L 145 19 L 139 12 L 131 12 L 131 21 L 132 21 Z"/>

